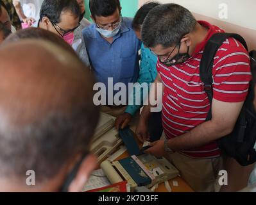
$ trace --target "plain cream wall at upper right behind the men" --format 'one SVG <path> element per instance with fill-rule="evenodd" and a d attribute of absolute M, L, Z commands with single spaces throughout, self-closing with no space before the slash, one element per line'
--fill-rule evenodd
<path fill-rule="evenodd" d="M 139 7 L 148 0 L 139 0 Z M 207 20 L 226 32 L 239 33 L 250 49 L 256 49 L 256 1 L 255 0 L 158 0 L 160 3 L 177 3 L 194 13 L 196 19 Z M 223 6 L 227 19 L 221 17 Z"/>

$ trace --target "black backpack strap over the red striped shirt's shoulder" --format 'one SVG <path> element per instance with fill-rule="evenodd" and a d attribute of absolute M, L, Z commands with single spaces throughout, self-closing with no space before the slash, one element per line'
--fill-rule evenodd
<path fill-rule="evenodd" d="M 205 50 L 203 51 L 203 56 L 200 62 L 200 78 L 204 84 L 204 90 L 209 98 L 210 103 L 212 103 L 212 67 L 214 63 L 214 57 L 216 53 L 225 42 L 226 38 L 234 37 L 236 40 L 244 45 L 245 49 L 248 51 L 247 44 L 243 37 L 235 33 L 215 33 L 208 40 Z M 210 110 L 207 120 L 212 118 L 212 112 Z"/>

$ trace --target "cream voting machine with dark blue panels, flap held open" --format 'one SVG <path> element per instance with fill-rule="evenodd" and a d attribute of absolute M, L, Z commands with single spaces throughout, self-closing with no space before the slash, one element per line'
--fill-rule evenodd
<path fill-rule="evenodd" d="M 130 156 L 117 161 L 103 161 L 101 169 L 105 172 L 110 183 L 127 181 L 133 192 L 137 186 L 151 188 L 178 176 L 178 170 L 165 158 L 155 158 L 144 154 L 136 142 L 132 131 L 126 127 L 119 130 Z"/>

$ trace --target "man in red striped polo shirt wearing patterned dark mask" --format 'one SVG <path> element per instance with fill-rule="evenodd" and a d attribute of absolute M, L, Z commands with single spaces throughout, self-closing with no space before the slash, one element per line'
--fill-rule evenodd
<path fill-rule="evenodd" d="M 209 38 L 224 32 L 196 21 L 178 4 L 162 4 L 149 12 L 142 26 L 142 41 L 158 56 L 158 76 L 163 83 L 162 122 L 166 140 L 147 150 L 169 158 L 182 177 L 198 192 L 214 191 L 223 169 L 216 140 L 232 132 L 248 93 L 250 58 L 243 45 L 228 38 L 214 58 L 212 120 L 205 122 L 210 102 L 200 79 L 200 61 Z M 152 106 L 144 106 L 137 135 L 147 140 L 146 122 Z"/>

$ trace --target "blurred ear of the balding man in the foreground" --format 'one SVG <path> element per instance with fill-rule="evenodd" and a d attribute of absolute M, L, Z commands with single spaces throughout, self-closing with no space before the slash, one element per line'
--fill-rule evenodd
<path fill-rule="evenodd" d="M 90 173 L 97 167 L 97 158 L 94 154 L 89 154 L 85 160 L 81 163 L 81 166 L 73 179 L 73 182 L 69 186 L 69 192 L 81 192 L 83 186 L 87 183 L 90 177 Z"/>

